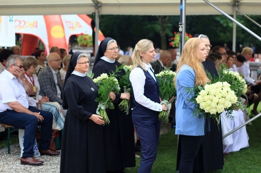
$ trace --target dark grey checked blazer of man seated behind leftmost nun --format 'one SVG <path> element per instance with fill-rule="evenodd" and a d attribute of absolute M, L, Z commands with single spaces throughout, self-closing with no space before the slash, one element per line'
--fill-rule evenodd
<path fill-rule="evenodd" d="M 44 70 L 41 71 L 38 75 L 38 80 L 41 89 L 39 94 L 42 96 L 44 95 L 48 96 L 51 102 L 57 101 L 59 102 L 59 104 L 62 104 L 63 86 L 62 86 L 61 73 L 59 70 L 56 75 L 57 75 L 58 86 L 61 90 L 61 98 L 57 96 L 57 88 L 54 82 L 54 76 L 50 66 L 45 67 Z"/>

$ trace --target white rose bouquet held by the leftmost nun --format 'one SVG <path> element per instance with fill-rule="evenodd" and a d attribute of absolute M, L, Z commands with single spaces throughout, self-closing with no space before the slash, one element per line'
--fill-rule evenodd
<path fill-rule="evenodd" d="M 106 113 L 106 108 L 113 109 L 114 105 L 110 99 L 109 93 L 114 92 L 115 94 L 119 92 L 118 80 L 114 75 L 108 76 L 106 73 L 102 73 L 97 78 L 93 79 L 94 83 L 98 86 L 99 97 L 95 99 L 98 102 L 98 107 L 96 113 L 102 116 L 105 124 L 109 124 L 109 118 Z"/>

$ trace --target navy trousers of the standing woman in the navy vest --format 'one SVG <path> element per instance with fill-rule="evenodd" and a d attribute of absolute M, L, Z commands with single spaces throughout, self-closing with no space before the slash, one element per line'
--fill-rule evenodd
<path fill-rule="evenodd" d="M 151 114 L 132 114 L 132 117 L 142 146 L 142 159 L 138 172 L 150 173 L 157 157 L 161 121 L 159 116 Z"/>

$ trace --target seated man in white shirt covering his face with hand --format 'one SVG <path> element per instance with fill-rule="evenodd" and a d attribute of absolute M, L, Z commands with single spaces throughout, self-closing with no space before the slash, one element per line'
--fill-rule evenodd
<path fill-rule="evenodd" d="M 39 151 L 42 155 L 58 155 L 50 150 L 53 114 L 29 106 L 27 94 L 34 92 L 32 84 L 25 77 L 23 61 L 18 55 L 7 59 L 6 69 L 0 74 L 0 122 L 25 129 L 24 152 L 21 164 L 41 165 L 43 161 L 33 157 L 36 127 L 41 125 Z"/>

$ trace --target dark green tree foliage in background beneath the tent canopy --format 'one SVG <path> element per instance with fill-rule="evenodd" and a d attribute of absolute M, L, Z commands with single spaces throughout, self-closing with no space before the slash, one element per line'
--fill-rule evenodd
<path fill-rule="evenodd" d="M 249 17 L 257 23 L 261 23 L 261 15 L 249 15 Z M 170 37 L 174 36 L 173 32 L 179 31 L 179 20 L 180 16 L 178 15 L 161 17 L 149 15 L 101 15 L 100 29 L 105 36 L 117 40 L 123 49 L 126 49 L 127 46 L 134 47 L 143 38 L 151 39 L 155 48 L 165 49 L 164 42 L 166 48 L 168 48 Z M 237 15 L 237 20 L 261 36 L 260 27 L 245 16 Z M 165 21 L 167 22 L 165 23 Z M 187 15 L 186 32 L 192 35 L 196 33 L 206 34 L 213 46 L 227 43 L 228 47 L 232 49 L 233 21 L 224 15 Z M 237 25 L 236 51 L 240 51 L 239 44 L 249 46 L 250 43 L 253 43 L 257 51 L 261 52 L 260 41 Z"/>

